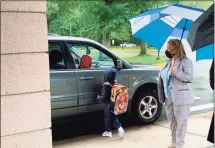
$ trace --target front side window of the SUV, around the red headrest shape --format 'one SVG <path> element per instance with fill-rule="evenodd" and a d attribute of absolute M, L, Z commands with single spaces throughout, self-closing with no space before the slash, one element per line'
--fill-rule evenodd
<path fill-rule="evenodd" d="M 91 69 L 115 67 L 112 58 L 90 45 L 84 43 L 67 43 L 67 45 L 77 68 L 80 68 L 80 60 L 83 55 L 88 55 L 92 58 Z"/>

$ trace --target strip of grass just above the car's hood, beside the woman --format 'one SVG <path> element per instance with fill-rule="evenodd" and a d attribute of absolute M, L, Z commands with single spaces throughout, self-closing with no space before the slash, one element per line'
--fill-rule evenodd
<path fill-rule="evenodd" d="M 141 64 L 150 64 L 163 66 L 166 61 L 164 55 L 160 56 L 160 60 L 157 60 L 157 55 L 142 55 L 142 56 L 134 56 L 134 57 L 123 57 L 126 61 L 130 63 L 141 63 Z"/>

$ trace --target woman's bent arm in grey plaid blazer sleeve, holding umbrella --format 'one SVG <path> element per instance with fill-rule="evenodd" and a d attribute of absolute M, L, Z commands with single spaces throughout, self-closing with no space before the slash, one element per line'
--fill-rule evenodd
<path fill-rule="evenodd" d="M 191 83 L 193 80 L 193 63 L 190 59 L 186 59 L 183 63 L 182 70 L 178 68 L 172 72 L 172 75 L 178 78 L 179 80 L 187 83 Z"/>

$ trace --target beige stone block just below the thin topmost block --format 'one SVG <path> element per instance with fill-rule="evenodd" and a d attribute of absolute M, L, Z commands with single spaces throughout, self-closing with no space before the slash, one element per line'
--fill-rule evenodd
<path fill-rule="evenodd" d="M 1 13 L 1 54 L 47 51 L 45 14 Z"/>

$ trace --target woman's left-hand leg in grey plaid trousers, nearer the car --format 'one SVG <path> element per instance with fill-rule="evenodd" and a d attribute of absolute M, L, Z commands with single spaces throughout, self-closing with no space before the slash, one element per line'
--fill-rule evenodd
<path fill-rule="evenodd" d="M 176 143 L 176 128 L 177 128 L 177 122 L 175 119 L 174 111 L 173 111 L 173 103 L 171 99 L 166 99 L 165 101 L 166 106 L 166 112 L 168 120 L 170 121 L 170 129 L 171 129 L 171 142 L 172 146 Z"/>

